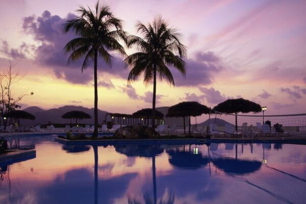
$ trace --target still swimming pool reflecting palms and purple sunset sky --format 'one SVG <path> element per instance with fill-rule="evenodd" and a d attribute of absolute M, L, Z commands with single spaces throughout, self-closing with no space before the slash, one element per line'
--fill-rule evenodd
<path fill-rule="evenodd" d="M 306 146 L 64 145 L 23 136 L 36 158 L 1 166 L 0 203 L 304 203 Z"/>

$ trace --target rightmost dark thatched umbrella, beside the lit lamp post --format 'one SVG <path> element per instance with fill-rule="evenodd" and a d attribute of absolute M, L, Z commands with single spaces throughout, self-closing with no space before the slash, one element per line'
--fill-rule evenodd
<path fill-rule="evenodd" d="M 236 115 L 236 131 L 238 131 L 237 125 L 237 114 L 241 113 L 259 113 L 262 111 L 261 105 L 254 103 L 253 101 L 237 98 L 237 99 L 227 99 L 222 103 L 218 104 L 213 108 L 213 110 L 221 112 L 221 113 L 229 113 Z"/>

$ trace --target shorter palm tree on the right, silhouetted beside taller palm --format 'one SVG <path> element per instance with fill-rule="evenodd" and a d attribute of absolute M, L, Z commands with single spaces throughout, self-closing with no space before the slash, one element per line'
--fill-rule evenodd
<path fill-rule="evenodd" d="M 181 33 L 169 27 L 162 17 L 157 17 L 147 26 L 138 21 L 136 28 L 143 38 L 133 35 L 127 38 L 128 48 L 136 46 L 139 49 L 139 52 L 125 58 L 125 62 L 132 66 L 127 82 L 130 84 L 137 80 L 142 73 L 146 85 L 153 81 L 152 126 L 154 127 L 157 74 L 161 80 L 165 79 L 174 86 L 174 79 L 168 66 L 178 69 L 185 76 L 183 58 L 186 57 L 187 50 L 179 40 Z"/>

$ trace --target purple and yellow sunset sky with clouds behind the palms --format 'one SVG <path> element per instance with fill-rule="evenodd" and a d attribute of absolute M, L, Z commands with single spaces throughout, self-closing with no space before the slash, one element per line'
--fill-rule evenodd
<path fill-rule="evenodd" d="M 93 108 L 93 67 L 82 61 L 67 66 L 63 47 L 74 36 L 63 34 L 67 18 L 91 1 L 1 0 L 0 69 L 24 75 L 12 87 L 15 96 L 34 92 L 21 109 L 65 105 Z M 198 101 L 213 108 L 228 98 L 243 97 L 265 114 L 306 113 L 306 1 L 113 0 L 108 4 L 123 20 L 123 29 L 138 35 L 135 24 L 161 15 L 182 33 L 187 46 L 186 78 L 171 69 L 175 86 L 157 83 L 157 107 Z M 141 36 L 140 36 L 141 37 Z M 124 44 L 123 44 L 124 45 Z M 126 49 L 128 55 L 136 50 Z M 98 61 L 98 108 L 131 114 L 152 105 L 152 84 L 143 78 L 127 85 L 130 68 L 112 53 L 109 67 Z"/>

